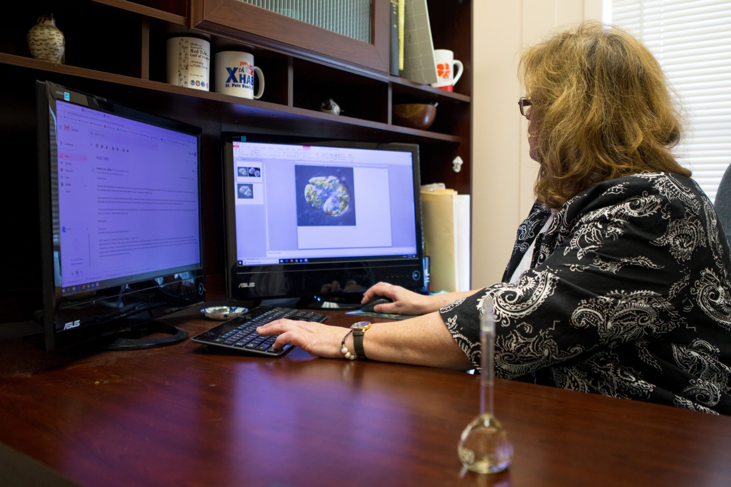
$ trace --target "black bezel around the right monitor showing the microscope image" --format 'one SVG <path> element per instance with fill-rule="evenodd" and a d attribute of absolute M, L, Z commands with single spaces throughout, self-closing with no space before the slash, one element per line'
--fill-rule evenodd
<path fill-rule="evenodd" d="M 316 264 L 262 264 L 257 266 L 239 266 L 236 256 L 236 234 L 235 234 L 235 186 L 234 181 L 234 161 L 233 161 L 233 142 L 240 142 L 244 137 L 244 142 L 261 142 L 268 144 L 284 144 L 284 145 L 313 145 L 324 147 L 345 147 L 353 149 L 372 149 L 372 150 L 398 150 L 412 153 L 412 182 L 414 185 L 414 222 L 416 231 L 416 247 L 417 256 L 415 258 L 377 258 L 376 260 L 357 260 L 357 258 L 344 258 L 337 262 L 320 262 Z M 359 272 L 361 275 L 372 275 L 371 284 L 375 284 L 379 280 L 385 280 L 390 277 L 389 282 L 402 285 L 413 291 L 423 289 L 423 228 L 422 228 L 422 209 L 421 209 L 421 180 L 420 180 L 420 164 L 419 164 L 419 146 L 415 144 L 404 143 L 379 143 L 379 142 L 362 142 L 362 141 L 346 141 L 333 139 L 311 139 L 305 137 L 292 136 L 276 136 L 270 134 L 256 134 L 251 132 L 223 132 L 221 134 L 221 149 L 223 158 L 223 184 L 224 184 L 224 218 L 226 224 L 226 288 L 229 299 L 247 301 L 252 299 L 277 299 L 277 298 L 306 298 L 310 296 L 318 296 L 327 299 L 328 296 L 343 296 L 346 294 L 361 294 L 366 288 L 357 288 L 346 291 L 340 289 L 336 292 L 322 291 L 317 288 L 317 277 L 315 275 L 337 275 L 338 272 L 343 275 L 348 272 Z M 412 276 L 414 272 L 418 272 L 419 277 L 414 280 L 412 277 L 397 279 L 395 272 L 397 269 L 400 275 Z M 257 277 L 262 275 L 279 275 L 280 280 L 284 280 L 285 287 L 282 291 L 270 292 L 260 291 L 255 285 Z M 304 289 L 302 283 L 304 280 L 314 281 L 314 287 Z M 254 286 L 252 286 L 254 284 Z"/>

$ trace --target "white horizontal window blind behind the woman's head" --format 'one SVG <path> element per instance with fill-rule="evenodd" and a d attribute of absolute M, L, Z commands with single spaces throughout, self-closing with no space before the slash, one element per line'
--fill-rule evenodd
<path fill-rule="evenodd" d="M 731 1 L 604 1 L 605 23 L 640 38 L 683 100 L 689 127 L 678 162 L 715 201 L 731 164 Z"/>

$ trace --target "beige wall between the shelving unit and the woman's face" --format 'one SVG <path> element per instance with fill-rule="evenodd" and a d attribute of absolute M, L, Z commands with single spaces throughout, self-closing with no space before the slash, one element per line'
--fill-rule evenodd
<path fill-rule="evenodd" d="M 534 200 L 518 51 L 559 26 L 601 19 L 602 0 L 474 0 L 473 8 L 472 288 L 480 288 L 502 277 Z"/>

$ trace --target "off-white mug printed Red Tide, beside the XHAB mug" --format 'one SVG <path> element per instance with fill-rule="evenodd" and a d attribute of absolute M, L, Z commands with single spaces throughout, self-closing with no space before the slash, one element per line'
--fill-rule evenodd
<path fill-rule="evenodd" d="M 167 39 L 167 83 L 194 90 L 211 88 L 211 43 L 197 37 Z"/>

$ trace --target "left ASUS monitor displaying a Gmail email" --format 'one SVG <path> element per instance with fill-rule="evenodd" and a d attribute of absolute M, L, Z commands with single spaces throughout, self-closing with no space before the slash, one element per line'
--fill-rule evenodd
<path fill-rule="evenodd" d="M 40 81 L 37 120 L 46 348 L 205 302 L 200 129 Z"/>

